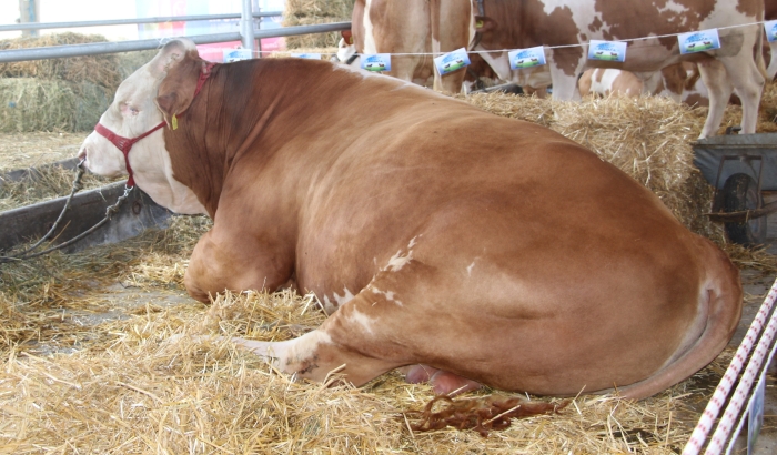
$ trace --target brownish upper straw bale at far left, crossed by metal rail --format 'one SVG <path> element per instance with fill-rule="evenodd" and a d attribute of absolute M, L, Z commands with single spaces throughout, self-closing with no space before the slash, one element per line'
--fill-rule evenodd
<path fill-rule="evenodd" d="M 53 33 L 42 37 L 22 37 L 0 40 L 0 49 L 41 48 L 64 44 L 105 42 L 100 34 Z M 71 57 L 12 63 L 0 63 L 0 77 L 60 79 L 71 82 L 90 82 L 115 91 L 121 83 L 115 54 Z"/>

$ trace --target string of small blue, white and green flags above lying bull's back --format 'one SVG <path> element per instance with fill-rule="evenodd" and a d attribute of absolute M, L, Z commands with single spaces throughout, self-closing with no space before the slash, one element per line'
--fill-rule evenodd
<path fill-rule="evenodd" d="M 630 41 L 658 39 L 677 37 L 679 50 L 682 54 L 703 52 L 715 49 L 720 49 L 720 38 L 718 30 L 733 29 L 739 27 L 764 26 L 766 37 L 769 42 L 777 41 L 777 20 L 758 21 L 737 26 L 719 27 L 717 29 L 692 31 L 686 33 L 669 33 L 657 34 L 653 37 L 628 38 L 617 41 L 591 40 L 587 43 L 562 44 L 562 46 L 537 46 L 528 49 L 497 49 L 485 51 L 467 51 L 465 48 L 457 49 L 452 52 L 434 58 L 435 68 L 441 75 L 445 75 L 471 63 L 470 53 L 491 53 L 491 52 L 507 52 L 509 65 L 513 70 L 522 70 L 547 64 L 545 59 L 545 49 L 562 49 L 562 48 L 579 48 L 588 46 L 588 60 L 602 60 L 610 62 L 626 61 L 626 47 Z M 229 60 L 250 59 L 253 54 L 273 53 L 275 51 L 249 51 L 248 49 L 235 49 L 240 52 L 240 57 Z M 376 53 L 362 54 L 361 68 L 367 71 L 391 71 L 392 57 L 412 57 L 412 55 L 434 55 L 432 52 L 396 52 L 396 53 Z M 303 59 L 321 59 L 321 53 L 291 53 L 291 57 Z"/>

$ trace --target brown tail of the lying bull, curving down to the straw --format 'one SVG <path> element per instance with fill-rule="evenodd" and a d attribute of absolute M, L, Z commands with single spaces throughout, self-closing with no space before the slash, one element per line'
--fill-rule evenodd
<path fill-rule="evenodd" d="M 699 287 L 700 334 L 650 377 L 619 388 L 622 396 L 644 398 L 686 380 L 707 366 L 731 340 L 741 317 L 739 271 L 712 242 L 700 239 L 706 277 Z"/>

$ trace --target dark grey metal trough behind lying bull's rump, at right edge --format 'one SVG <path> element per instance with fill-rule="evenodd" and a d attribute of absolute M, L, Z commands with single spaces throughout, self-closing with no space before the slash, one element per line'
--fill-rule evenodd
<path fill-rule="evenodd" d="M 715 188 L 709 219 L 723 222 L 734 243 L 766 241 L 766 215 L 777 201 L 764 204 L 764 191 L 777 191 L 777 133 L 726 134 L 694 145 L 694 164 Z"/>

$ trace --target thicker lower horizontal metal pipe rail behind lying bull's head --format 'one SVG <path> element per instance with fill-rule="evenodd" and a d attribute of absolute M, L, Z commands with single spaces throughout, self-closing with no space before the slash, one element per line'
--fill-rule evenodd
<path fill-rule="evenodd" d="M 283 27 L 270 30 L 253 30 L 254 39 L 293 37 L 309 33 L 325 33 L 330 31 L 349 30 L 351 22 L 319 23 L 315 26 Z M 239 32 L 214 33 L 186 37 L 195 44 L 206 44 L 212 42 L 241 41 Z M 99 55 L 103 53 L 144 51 L 159 49 L 171 38 L 93 42 L 85 44 L 50 46 L 46 48 L 9 49 L 0 51 L 0 63 L 10 63 L 28 60 L 61 59 L 67 57 Z"/>

